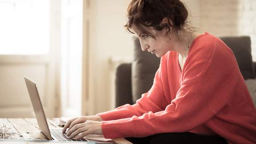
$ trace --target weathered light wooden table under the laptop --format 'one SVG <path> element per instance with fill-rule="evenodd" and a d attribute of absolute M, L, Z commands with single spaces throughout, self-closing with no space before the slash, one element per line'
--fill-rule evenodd
<path fill-rule="evenodd" d="M 61 128 L 58 123 L 58 118 L 48 119 L 50 128 Z M 47 140 L 40 131 L 36 118 L 0 118 L 0 128 L 10 133 L 6 139 Z M 113 140 L 117 144 L 132 144 L 123 138 Z"/>

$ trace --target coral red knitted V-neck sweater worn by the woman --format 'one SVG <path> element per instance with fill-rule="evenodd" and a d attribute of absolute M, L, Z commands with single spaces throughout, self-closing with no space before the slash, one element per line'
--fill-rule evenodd
<path fill-rule="evenodd" d="M 106 138 L 194 132 L 256 144 L 256 108 L 235 56 L 207 32 L 193 41 L 183 71 L 178 53 L 167 52 L 152 88 L 136 104 L 97 115 Z"/>

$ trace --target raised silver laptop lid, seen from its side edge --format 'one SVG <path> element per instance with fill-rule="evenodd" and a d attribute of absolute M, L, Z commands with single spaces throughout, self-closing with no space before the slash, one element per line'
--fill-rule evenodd
<path fill-rule="evenodd" d="M 44 109 L 39 97 L 38 90 L 36 88 L 36 83 L 32 80 L 29 80 L 27 77 L 24 76 L 28 93 L 30 96 L 30 100 L 32 102 L 34 112 L 36 114 L 36 120 L 39 125 L 40 130 L 44 133 L 44 136 L 48 138 L 48 140 L 52 140 L 52 136 L 44 115 Z"/>

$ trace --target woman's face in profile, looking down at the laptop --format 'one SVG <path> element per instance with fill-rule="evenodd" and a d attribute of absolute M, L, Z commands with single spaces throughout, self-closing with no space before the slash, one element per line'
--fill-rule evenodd
<path fill-rule="evenodd" d="M 165 53 L 172 50 L 172 40 L 166 35 L 166 32 L 156 31 L 150 29 L 150 32 L 155 36 L 149 36 L 144 33 L 136 33 L 136 36 L 140 39 L 140 46 L 142 51 L 148 51 L 155 54 L 157 57 L 164 56 Z"/>

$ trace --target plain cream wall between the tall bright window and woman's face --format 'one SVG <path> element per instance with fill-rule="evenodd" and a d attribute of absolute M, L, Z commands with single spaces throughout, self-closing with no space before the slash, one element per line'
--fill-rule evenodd
<path fill-rule="evenodd" d="M 123 27 L 130 0 L 91 0 L 89 93 L 96 114 L 112 109 L 110 57 L 132 57 L 132 34 Z"/>

